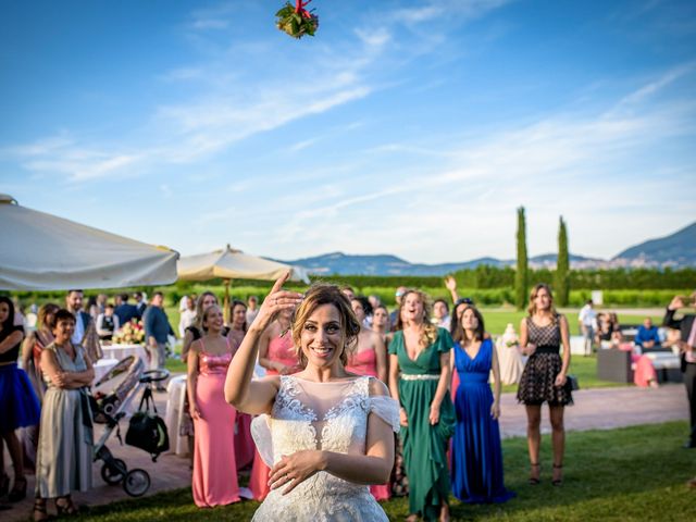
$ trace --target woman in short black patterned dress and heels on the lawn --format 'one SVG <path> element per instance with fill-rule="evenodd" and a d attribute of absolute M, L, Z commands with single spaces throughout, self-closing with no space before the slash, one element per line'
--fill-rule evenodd
<path fill-rule="evenodd" d="M 548 285 L 538 284 L 532 290 L 529 316 L 520 323 L 520 346 L 530 356 L 518 388 L 518 400 L 526 408 L 526 439 L 530 451 L 530 484 L 539 483 L 539 444 L 542 405 L 548 402 L 554 446 L 551 482 L 560 486 L 563 477 L 566 430 L 563 409 L 573 403 L 568 386 L 570 340 L 568 321 L 554 308 L 554 296 Z M 561 358 L 560 346 L 563 346 Z"/>

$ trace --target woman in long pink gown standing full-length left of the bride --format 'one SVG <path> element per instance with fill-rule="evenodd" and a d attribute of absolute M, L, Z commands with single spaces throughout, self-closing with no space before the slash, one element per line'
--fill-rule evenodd
<path fill-rule="evenodd" d="M 194 501 L 200 508 L 239 500 L 234 439 L 235 409 L 225 401 L 224 385 L 234 351 L 223 335 L 217 306 L 202 316 L 206 334 L 194 341 L 188 357 L 188 402 L 196 426 Z"/>

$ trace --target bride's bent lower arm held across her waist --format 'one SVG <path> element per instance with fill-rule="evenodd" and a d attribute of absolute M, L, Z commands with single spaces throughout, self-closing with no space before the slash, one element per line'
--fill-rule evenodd
<path fill-rule="evenodd" d="M 387 388 L 378 381 L 370 381 L 370 395 L 388 397 Z M 299 483 L 318 471 L 325 471 L 353 484 L 385 484 L 389 482 L 394 465 L 394 433 L 391 426 L 375 413 L 368 417 L 365 455 L 309 449 L 284 456 L 273 467 L 269 484 L 272 488 L 287 486 L 291 492 Z"/>

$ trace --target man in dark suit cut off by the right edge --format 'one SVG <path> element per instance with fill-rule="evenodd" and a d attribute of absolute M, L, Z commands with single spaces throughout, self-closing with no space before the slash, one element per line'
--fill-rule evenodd
<path fill-rule="evenodd" d="M 696 291 L 691 295 L 691 302 L 686 303 L 685 300 L 681 296 L 675 296 L 672 299 L 670 306 L 667 307 L 662 324 L 669 328 L 679 330 L 681 334 L 679 348 L 682 356 L 682 373 L 686 385 L 692 426 L 691 435 L 684 447 L 696 448 L 696 315 L 687 313 L 682 319 L 674 319 L 674 314 L 680 308 L 696 307 Z"/>

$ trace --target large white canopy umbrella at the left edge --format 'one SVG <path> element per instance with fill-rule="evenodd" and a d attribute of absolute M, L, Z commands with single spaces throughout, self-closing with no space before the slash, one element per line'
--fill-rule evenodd
<path fill-rule="evenodd" d="M 27 209 L 0 194 L 0 289 L 167 285 L 178 252 Z"/>

